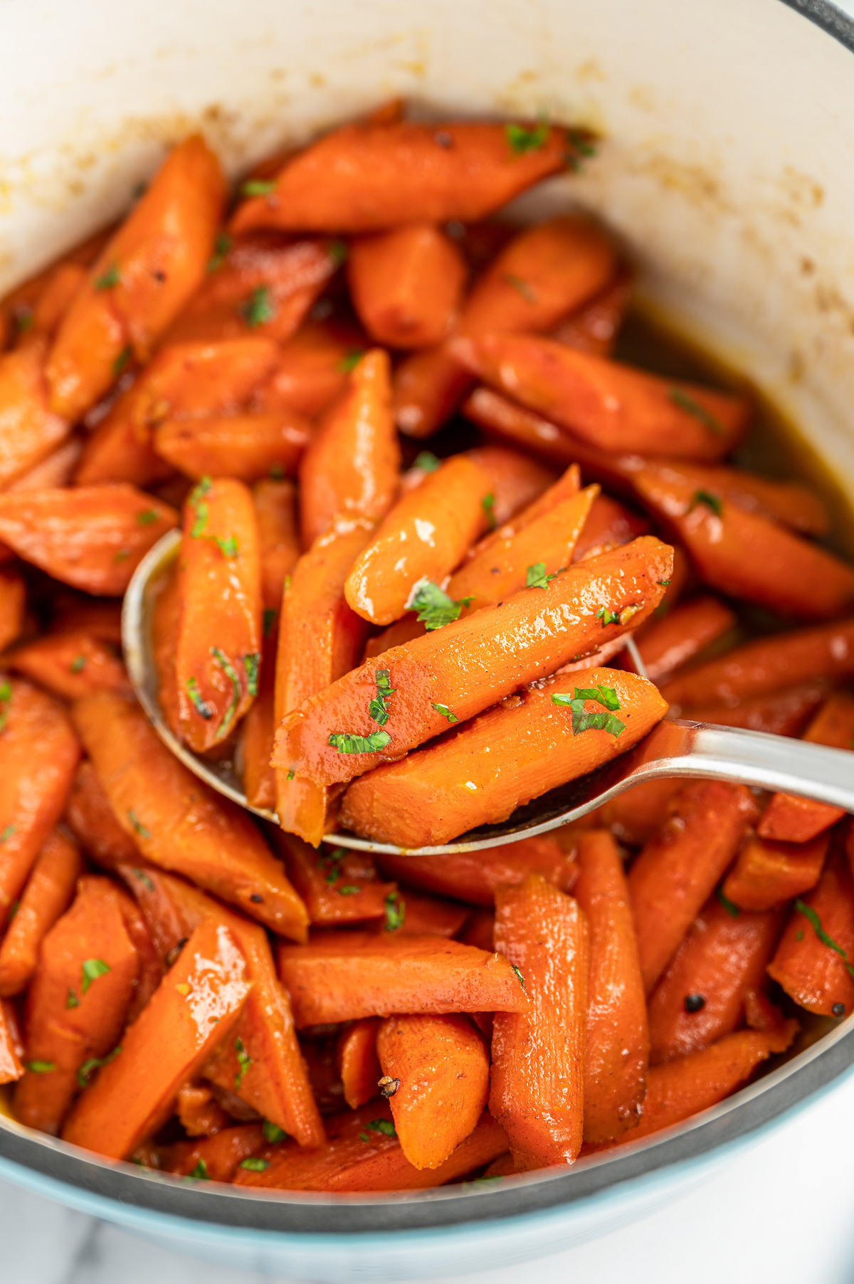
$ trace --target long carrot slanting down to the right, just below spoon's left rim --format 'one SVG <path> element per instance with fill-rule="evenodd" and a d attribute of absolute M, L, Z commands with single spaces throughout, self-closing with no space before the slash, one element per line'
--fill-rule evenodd
<path fill-rule="evenodd" d="M 73 715 L 116 819 L 146 860 L 304 939 L 306 907 L 258 829 L 173 758 L 141 709 L 99 692 L 77 701 Z"/>

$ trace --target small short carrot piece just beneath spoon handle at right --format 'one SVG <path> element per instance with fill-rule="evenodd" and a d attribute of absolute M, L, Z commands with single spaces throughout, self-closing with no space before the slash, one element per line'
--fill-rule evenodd
<path fill-rule="evenodd" d="M 723 894 L 741 909 L 773 909 L 818 882 L 830 833 L 808 842 L 777 842 L 750 836 L 724 878 Z"/>

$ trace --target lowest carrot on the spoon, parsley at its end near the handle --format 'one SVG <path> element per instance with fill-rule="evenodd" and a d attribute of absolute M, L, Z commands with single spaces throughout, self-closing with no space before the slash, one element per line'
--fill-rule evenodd
<path fill-rule="evenodd" d="M 584 714 L 605 718 L 597 690 L 607 692 L 620 729 L 573 729 L 575 714 L 559 706 L 580 692 Z M 625 752 L 665 711 L 655 687 L 637 674 L 589 669 L 551 678 L 438 743 L 369 772 L 344 795 L 340 823 L 401 847 L 448 842 Z"/>

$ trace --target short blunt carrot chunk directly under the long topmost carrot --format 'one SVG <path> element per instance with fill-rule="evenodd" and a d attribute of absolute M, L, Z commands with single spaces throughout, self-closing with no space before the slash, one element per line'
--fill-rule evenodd
<path fill-rule="evenodd" d="M 360 321 L 388 348 L 429 348 L 455 318 L 466 266 L 433 223 L 408 223 L 353 241 L 347 282 Z"/>

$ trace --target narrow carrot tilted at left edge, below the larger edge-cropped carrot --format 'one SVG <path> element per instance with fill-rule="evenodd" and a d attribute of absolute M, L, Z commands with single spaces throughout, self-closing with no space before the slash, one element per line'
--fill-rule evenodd
<path fill-rule="evenodd" d="M 68 908 L 82 868 L 77 844 L 53 829 L 0 946 L 0 995 L 26 990 L 36 971 L 42 937 Z"/>

